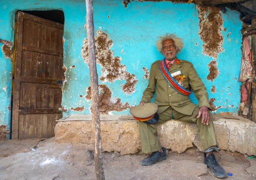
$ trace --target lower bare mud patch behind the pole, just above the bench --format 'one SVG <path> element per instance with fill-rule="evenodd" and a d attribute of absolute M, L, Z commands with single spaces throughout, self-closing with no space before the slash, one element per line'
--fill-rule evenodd
<path fill-rule="evenodd" d="M 127 108 L 131 108 L 132 106 L 129 103 L 122 103 L 121 99 L 118 97 L 114 97 L 111 99 L 112 91 L 108 88 L 107 85 L 101 84 L 99 85 L 100 94 L 99 94 L 99 108 L 101 114 L 109 114 L 110 111 L 123 111 Z M 91 86 L 86 89 L 87 95 L 85 98 L 87 100 L 91 100 Z"/>

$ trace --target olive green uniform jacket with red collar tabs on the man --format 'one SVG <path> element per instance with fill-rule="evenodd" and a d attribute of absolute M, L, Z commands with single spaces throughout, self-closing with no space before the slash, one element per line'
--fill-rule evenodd
<path fill-rule="evenodd" d="M 151 102 L 151 98 L 156 92 L 155 103 L 158 105 L 157 113 L 161 113 L 171 106 L 174 110 L 182 114 L 191 115 L 197 105 L 191 102 L 189 96 L 179 94 L 169 85 L 161 73 L 159 62 L 160 60 L 155 61 L 151 65 L 149 84 L 143 92 L 141 101 L 146 103 Z M 175 70 L 180 70 L 185 76 L 183 88 L 193 90 L 198 99 L 199 107 L 206 106 L 211 110 L 208 92 L 193 64 L 185 60 L 179 60 L 178 63 L 174 61 L 169 69 L 169 73 L 171 74 Z"/>

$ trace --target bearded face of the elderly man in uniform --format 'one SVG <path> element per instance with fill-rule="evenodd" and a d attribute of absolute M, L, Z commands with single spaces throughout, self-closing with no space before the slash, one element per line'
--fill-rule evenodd
<path fill-rule="evenodd" d="M 162 43 L 163 54 L 166 60 L 172 61 L 176 58 L 176 46 L 172 39 L 164 40 Z"/>

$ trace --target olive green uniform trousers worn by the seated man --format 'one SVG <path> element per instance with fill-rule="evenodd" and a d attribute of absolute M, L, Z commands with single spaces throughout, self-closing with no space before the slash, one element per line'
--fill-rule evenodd
<path fill-rule="evenodd" d="M 214 130 L 212 114 L 210 113 L 210 124 L 206 125 L 202 123 L 202 115 L 200 118 L 197 118 L 198 112 L 199 107 L 196 107 L 192 115 L 185 115 L 175 111 L 172 107 L 169 107 L 159 114 L 159 121 L 156 124 L 164 123 L 172 117 L 173 119 L 180 120 L 182 122 L 196 123 L 204 150 L 212 146 L 218 147 L 219 144 Z M 139 121 L 139 129 L 142 153 L 155 152 L 161 149 L 162 146 L 157 135 L 155 124 L 146 124 L 143 121 Z"/>

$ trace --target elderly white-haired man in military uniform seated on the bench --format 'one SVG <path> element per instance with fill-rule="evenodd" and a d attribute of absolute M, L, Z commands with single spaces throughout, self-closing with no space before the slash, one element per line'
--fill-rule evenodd
<path fill-rule="evenodd" d="M 212 114 L 209 112 L 209 98 L 206 87 L 198 76 L 192 63 L 179 60 L 176 53 L 183 48 L 181 38 L 174 34 L 162 36 L 157 41 L 157 49 L 164 55 L 161 61 L 151 65 L 148 87 L 143 92 L 140 105 L 151 102 L 156 92 L 159 121 L 178 119 L 186 123 L 196 123 L 204 147 L 204 163 L 217 177 L 226 177 L 226 172 L 218 164 L 213 151 L 218 151 L 218 141 L 213 126 Z M 189 99 L 194 92 L 198 99 L 196 105 Z M 165 148 L 161 147 L 154 124 L 139 121 L 143 153 L 152 153 L 141 161 L 142 165 L 152 165 L 166 159 Z"/>

